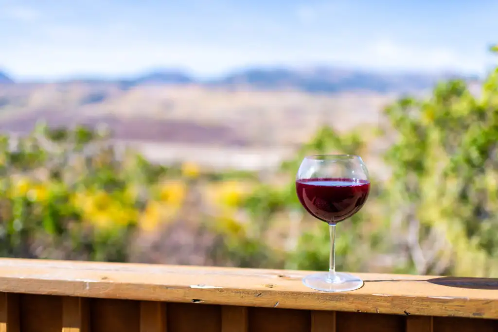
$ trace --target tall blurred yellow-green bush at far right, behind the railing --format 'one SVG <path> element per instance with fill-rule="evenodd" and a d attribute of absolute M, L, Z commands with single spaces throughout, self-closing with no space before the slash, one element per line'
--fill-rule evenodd
<path fill-rule="evenodd" d="M 386 109 L 399 139 L 384 201 L 401 218 L 419 273 L 497 275 L 498 76 L 480 97 L 465 82 L 439 84 L 426 101 Z M 418 243 L 416 243 L 418 242 Z"/>

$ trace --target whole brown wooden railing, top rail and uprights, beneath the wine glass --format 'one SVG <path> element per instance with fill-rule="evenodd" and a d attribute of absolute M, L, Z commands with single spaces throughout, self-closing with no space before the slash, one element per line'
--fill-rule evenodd
<path fill-rule="evenodd" d="M 497 332 L 498 279 L 0 259 L 0 332 Z"/>

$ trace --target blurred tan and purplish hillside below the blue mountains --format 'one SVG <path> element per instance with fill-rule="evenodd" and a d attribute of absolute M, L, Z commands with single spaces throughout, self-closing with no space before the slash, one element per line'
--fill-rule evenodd
<path fill-rule="evenodd" d="M 329 123 L 347 130 L 378 120 L 392 95 L 233 91 L 200 85 L 12 84 L 0 89 L 0 129 L 108 123 L 122 139 L 207 145 L 296 145 Z"/>

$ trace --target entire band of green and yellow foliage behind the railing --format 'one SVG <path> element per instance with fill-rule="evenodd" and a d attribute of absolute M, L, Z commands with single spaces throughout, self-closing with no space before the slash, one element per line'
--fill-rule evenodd
<path fill-rule="evenodd" d="M 371 174 L 366 206 L 338 225 L 338 269 L 497 277 L 498 68 L 478 94 L 460 80 L 441 82 L 383 116 L 378 128 L 320 128 L 270 183 L 118 154 L 105 128 L 40 123 L 14 149 L 0 136 L 0 255 L 126 261 L 137 236 L 175 222 L 192 234 L 195 220 L 212 235 L 217 264 L 325 270 L 328 227 L 297 200 L 299 164 L 350 153 L 368 166 L 383 140 L 387 176 Z M 214 202 L 198 198 L 203 190 Z"/>

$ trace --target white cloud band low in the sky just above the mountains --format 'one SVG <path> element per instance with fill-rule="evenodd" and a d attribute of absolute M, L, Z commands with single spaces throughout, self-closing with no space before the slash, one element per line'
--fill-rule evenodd
<path fill-rule="evenodd" d="M 93 41 L 83 38 L 77 42 L 61 39 L 26 42 L 15 50 L 7 49 L 0 53 L 0 63 L 19 79 L 60 78 L 78 74 L 121 76 L 157 67 L 187 68 L 195 74 L 210 76 L 252 65 L 325 64 L 387 71 L 453 70 L 468 73 L 480 73 L 485 65 L 484 58 L 479 54 L 464 56 L 450 49 L 415 47 L 388 40 L 367 43 L 362 50 L 355 45 L 339 50 L 333 45 L 300 49 L 284 45 L 261 45 L 259 48 L 239 46 L 183 44 L 166 40 L 130 41 L 125 36 L 94 38 Z M 36 62 L 32 61 L 33 54 L 36 54 Z"/>

